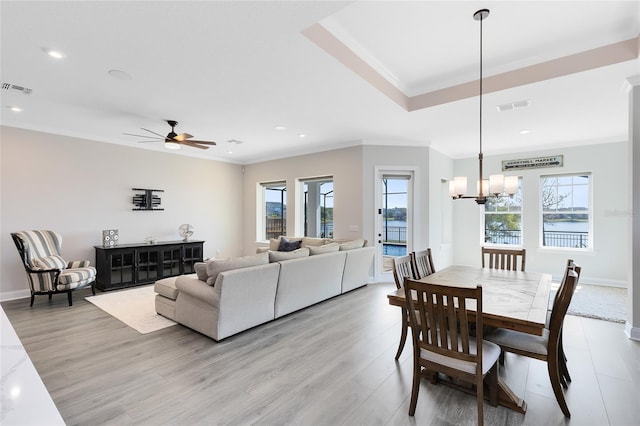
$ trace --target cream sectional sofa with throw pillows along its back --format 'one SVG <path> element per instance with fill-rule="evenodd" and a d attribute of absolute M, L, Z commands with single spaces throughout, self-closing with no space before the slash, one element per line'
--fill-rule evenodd
<path fill-rule="evenodd" d="M 218 341 L 367 284 L 374 247 L 318 240 L 291 252 L 210 260 L 196 274 L 159 280 L 156 312 Z"/>

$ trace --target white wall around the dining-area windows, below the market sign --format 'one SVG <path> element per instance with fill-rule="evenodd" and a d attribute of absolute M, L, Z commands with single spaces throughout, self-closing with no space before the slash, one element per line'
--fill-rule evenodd
<path fill-rule="evenodd" d="M 627 251 L 629 238 L 628 143 L 587 145 L 502 156 L 485 156 L 485 175 L 499 173 L 502 160 L 564 155 L 564 166 L 519 170 L 523 177 L 523 246 L 527 249 L 527 270 L 551 272 L 554 279 L 562 274 L 567 258 L 583 266 L 582 283 L 627 286 Z M 540 175 L 591 172 L 593 194 L 593 250 L 541 248 L 539 244 Z M 456 176 L 468 176 L 475 182 L 477 158 L 455 161 Z M 508 173 L 508 174 L 516 174 Z M 469 187 L 472 185 L 469 184 Z M 473 184 L 475 188 L 475 184 Z M 457 200 L 454 204 L 454 262 L 480 265 L 480 207 L 473 200 Z"/>

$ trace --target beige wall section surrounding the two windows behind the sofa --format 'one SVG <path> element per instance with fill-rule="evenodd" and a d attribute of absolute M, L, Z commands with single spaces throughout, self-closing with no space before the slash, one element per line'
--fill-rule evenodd
<path fill-rule="evenodd" d="M 255 253 L 258 229 L 256 218 L 260 183 L 287 182 L 287 235 L 301 235 L 294 229 L 297 203 L 296 179 L 333 176 L 334 238 L 363 237 L 362 147 L 325 151 L 245 166 L 244 173 L 244 254 Z M 299 213 L 299 212 L 298 212 Z M 351 231 L 351 227 L 357 231 Z M 367 238 L 367 237 L 363 237 Z"/>

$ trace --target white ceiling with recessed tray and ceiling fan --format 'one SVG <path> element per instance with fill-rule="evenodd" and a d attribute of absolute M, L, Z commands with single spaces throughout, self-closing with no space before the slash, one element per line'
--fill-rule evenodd
<path fill-rule="evenodd" d="M 356 144 L 474 156 L 477 89 L 409 112 L 305 30 L 320 25 L 352 62 L 364 60 L 375 78 L 411 98 L 478 79 L 480 24 L 472 16 L 480 8 L 491 9 L 483 23 L 485 77 L 635 38 L 631 59 L 485 91 L 485 154 L 627 139 L 622 86 L 640 74 L 640 1 L 2 0 L 1 80 L 33 92 L 2 90 L 0 119 L 155 150 L 163 144 L 123 133 L 166 134 L 163 120 L 173 119 L 177 133 L 218 142 L 177 154 L 242 164 Z M 54 60 L 43 48 L 66 57 Z M 113 69 L 132 79 L 111 77 Z M 531 106 L 495 108 L 519 100 Z"/>

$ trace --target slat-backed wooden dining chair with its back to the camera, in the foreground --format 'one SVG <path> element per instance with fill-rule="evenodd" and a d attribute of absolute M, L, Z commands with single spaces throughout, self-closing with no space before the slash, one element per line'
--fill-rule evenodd
<path fill-rule="evenodd" d="M 413 329 L 413 384 L 409 415 L 413 416 L 416 411 L 424 368 L 432 373 L 431 382 L 434 384 L 439 380 L 438 373 L 441 373 L 473 385 L 478 403 L 478 424 L 482 425 L 485 377 L 489 403 L 493 406 L 498 403 L 500 356 L 500 347 L 482 338 L 482 286 L 453 287 L 405 278 L 404 290 Z M 470 333 L 471 323 L 477 324 L 475 337 Z"/>

